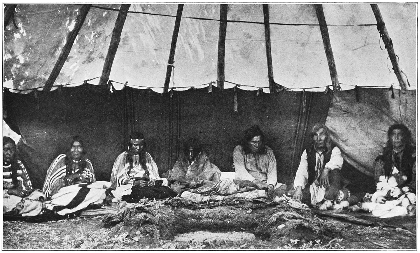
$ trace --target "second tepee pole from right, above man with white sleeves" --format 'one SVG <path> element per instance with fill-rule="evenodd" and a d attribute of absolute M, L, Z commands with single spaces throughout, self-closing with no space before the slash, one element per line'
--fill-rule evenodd
<path fill-rule="evenodd" d="M 334 90 L 340 90 L 339 78 L 337 76 L 336 62 L 334 61 L 333 49 L 331 47 L 330 35 L 328 34 L 327 23 L 325 22 L 324 10 L 321 4 L 315 4 L 316 16 L 318 17 L 319 29 L 324 42 L 325 55 L 327 56 L 328 68 L 330 69 L 331 82 Z"/>

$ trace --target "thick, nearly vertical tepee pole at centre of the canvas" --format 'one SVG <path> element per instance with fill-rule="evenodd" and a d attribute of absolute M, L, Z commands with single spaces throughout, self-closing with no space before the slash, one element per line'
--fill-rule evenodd
<path fill-rule="evenodd" d="M 217 50 L 217 87 L 225 87 L 225 51 L 226 51 L 226 27 L 228 19 L 228 5 L 220 5 L 219 45 Z"/>

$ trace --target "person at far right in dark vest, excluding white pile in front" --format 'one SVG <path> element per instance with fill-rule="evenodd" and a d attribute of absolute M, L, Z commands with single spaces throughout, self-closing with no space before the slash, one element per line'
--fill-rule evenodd
<path fill-rule="evenodd" d="M 403 124 L 393 124 L 388 129 L 388 142 L 375 159 L 375 182 L 381 176 L 395 177 L 397 187 L 416 189 L 416 149 L 411 144 L 411 133 Z"/>

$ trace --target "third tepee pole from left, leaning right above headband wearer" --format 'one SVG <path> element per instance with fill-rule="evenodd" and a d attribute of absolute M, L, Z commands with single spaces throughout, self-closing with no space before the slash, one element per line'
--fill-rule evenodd
<path fill-rule="evenodd" d="M 111 42 L 109 44 L 108 53 L 105 57 L 105 63 L 102 68 L 102 74 L 99 79 L 99 85 L 106 85 L 111 74 L 112 63 L 114 62 L 115 54 L 118 50 L 118 45 L 121 40 L 121 32 L 123 31 L 124 23 L 127 18 L 127 12 L 130 9 L 129 4 L 122 4 L 118 12 L 117 20 L 115 21 L 114 30 L 112 31 Z"/>

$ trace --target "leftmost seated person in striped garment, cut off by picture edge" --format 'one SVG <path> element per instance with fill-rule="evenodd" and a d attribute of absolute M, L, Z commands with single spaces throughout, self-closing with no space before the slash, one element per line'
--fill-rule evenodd
<path fill-rule="evenodd" d="M 16 144 L 3 136 L 3 213 L 11 211 L 34 189 L 23 163 L 16 159 Z"/>

